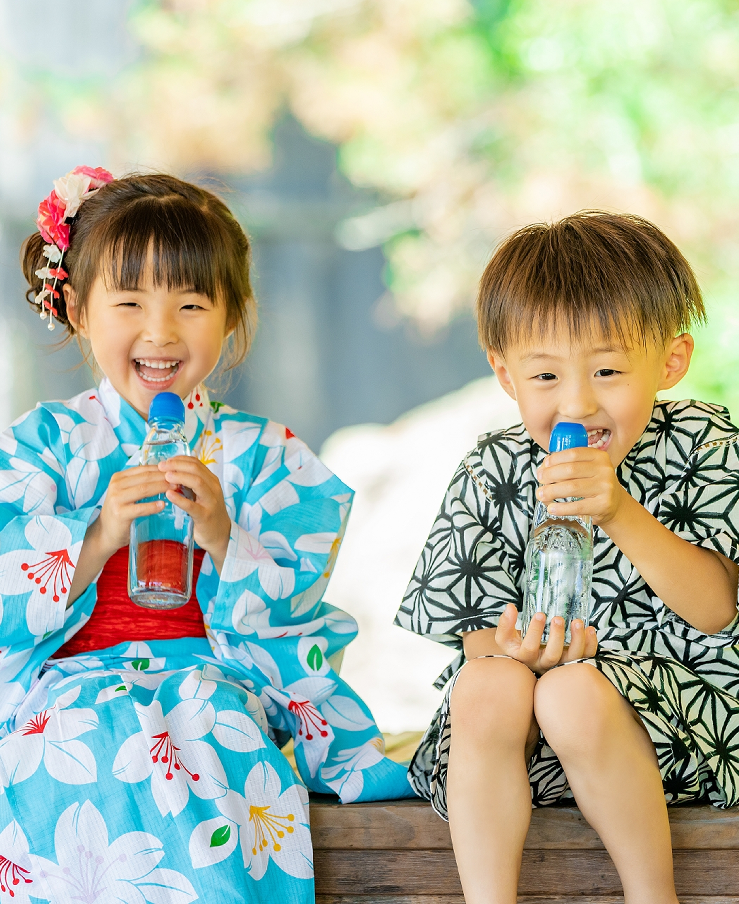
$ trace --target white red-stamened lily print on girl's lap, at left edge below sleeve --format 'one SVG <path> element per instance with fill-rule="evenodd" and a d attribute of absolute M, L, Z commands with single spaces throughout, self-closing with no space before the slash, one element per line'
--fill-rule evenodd
<path fill-rule="evenodd" d="M 98 780 L 92 750 L 81 734 L 98 728 L 98 714 L 89 709 L 68 709 L 80 687 L 61 696 L 49 709 L 37 712 L 0 740 L 0 782 L 17 785 L 33 776 L 41 765 L 58 782 L 88 785 Z"/>

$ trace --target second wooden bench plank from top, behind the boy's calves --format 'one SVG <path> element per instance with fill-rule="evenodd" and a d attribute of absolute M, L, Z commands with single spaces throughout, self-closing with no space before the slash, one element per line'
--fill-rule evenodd
<path fill-rule="evenodd" d="M 350 851 L 316 849 L 319 895 L 460 895 L 451 850 Z M 739 856 L 730 850 L 675 852 L 679 895 L 723 895 L 739 890 Z M 529 896 L 617 896 L 621 883 L 605 851 L 525 851 L 519 893 Z M 582 897 L 581 897 L 582 901 Z"/>

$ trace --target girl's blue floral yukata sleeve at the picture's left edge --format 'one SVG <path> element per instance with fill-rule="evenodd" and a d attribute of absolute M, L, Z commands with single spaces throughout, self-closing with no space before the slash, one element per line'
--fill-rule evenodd
<path fill-rule="evenodd" d="M 0 647 L 5 651 L 38 647 L 72 614 L 71 579 L 96 507 L 73 508 L 65 462 L 61 429 L 49 410 L 37 408 L 0 434 Z M 56 646 L 61 642 L 60 636 Z"/>

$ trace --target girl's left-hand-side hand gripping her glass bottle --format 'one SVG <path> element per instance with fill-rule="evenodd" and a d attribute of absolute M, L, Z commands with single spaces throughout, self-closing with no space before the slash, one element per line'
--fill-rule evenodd
<path fill-rule="evenodd" d="M 105 502 L 93 525 L 105 561 L 122 546 L 128 545 L 131 523 L 136 518 L 161 512 L 164 508 L 161 499 L 153 503 L 139 500 L 166 493 L 168 487 L 164 475 L 155 465 L 129 467 L 110 478 Z"/>

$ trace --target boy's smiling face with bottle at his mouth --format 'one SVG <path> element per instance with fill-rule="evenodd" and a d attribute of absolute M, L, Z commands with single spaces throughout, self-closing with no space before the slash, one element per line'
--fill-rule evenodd
<path fill-rule="evenodd" d="M 565 331 L 489 352 L 500 385 L 519 403 L 525 427 L 540 447 L 561 420 L 582 424 L 588 445 L 621 464 L 650 421 L 657 392 L 688 371 L 693 338 L 682 334 L 666 346 L 624 347 L 606 338 L 574 344 Z"/>

